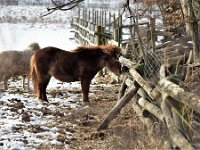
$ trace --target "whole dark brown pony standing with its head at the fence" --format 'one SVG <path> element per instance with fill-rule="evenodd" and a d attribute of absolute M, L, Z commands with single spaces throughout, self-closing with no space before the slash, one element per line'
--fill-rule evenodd
<path fill-rule="evenodd" d="M 46 88 L 54 76 L 63 82 L 81 81 L 83 102 L 89 102 L 90 82 L 102 68 L 121 73 L 121 49 L 113 45 L 78 47 L 72 51 L 45 47 L 30 60 L 31 78 L 38 99 L 47 101 Z"/>

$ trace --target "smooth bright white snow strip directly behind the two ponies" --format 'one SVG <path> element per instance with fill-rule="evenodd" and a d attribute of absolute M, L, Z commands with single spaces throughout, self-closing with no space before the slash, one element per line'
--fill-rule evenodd
<path fill-rule="evenodd" d="M 38 42 L 40 47 L 56 46 L 65 50 L 77 47 L 70 40 L 73 33 L 67 25 L 43 24 L 0 24 L 0 50 L 23 50 L 31 42 Z"/>

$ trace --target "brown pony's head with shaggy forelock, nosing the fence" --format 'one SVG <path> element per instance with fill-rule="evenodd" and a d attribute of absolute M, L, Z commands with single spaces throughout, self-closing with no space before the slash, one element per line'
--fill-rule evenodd
<path fill-rule="evenodd" d="M 119 57 L 121 49 L 115 45 L 105 45 L 102 46 L 102 50 L 106 53 L 105 66 L 116 75 L 120 75 L 121 63 L 119 62 Z"/>

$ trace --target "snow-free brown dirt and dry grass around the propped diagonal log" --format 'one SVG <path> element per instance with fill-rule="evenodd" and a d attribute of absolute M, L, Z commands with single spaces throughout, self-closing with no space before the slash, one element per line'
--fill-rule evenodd
<path fill-rule="evenodd" d="M 104 81 L 105 83 L 105 81 Z M 91 105 L 70 110 L 67 116 L 73 128 L 75 140 L 70 141 L 71 149 L 163 149 L 169 148 L 165 127 L 155 124 L 154 134 L 148 134 L 146 126 L 129 102 L 110 123 L 107 129 L 97 128 L 106 114 L 116 104 L 119 84 L 108 87 L 93 86 L 91 92 L 96 95 L 90 99 Z"/>

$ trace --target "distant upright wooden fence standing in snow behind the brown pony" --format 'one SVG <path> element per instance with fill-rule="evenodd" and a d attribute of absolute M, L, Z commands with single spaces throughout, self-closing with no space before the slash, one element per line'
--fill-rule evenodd
<path fill-rule="evenodd" d="M 135 24 L 123 25 L 122 20 L 122 15 L 116 17 L 115 13 L 106 10 L 78 9 L 78 16 L 72 22 L 74 39 L 82 45 L 102 45 L 110 40 L 120 45 L 128 40 L 127 36 L 134 35 L 131 32 L 135 27 Z M 146 26 L 150 30 L 149 22 L 139 23 L 139 26 Z"/>

